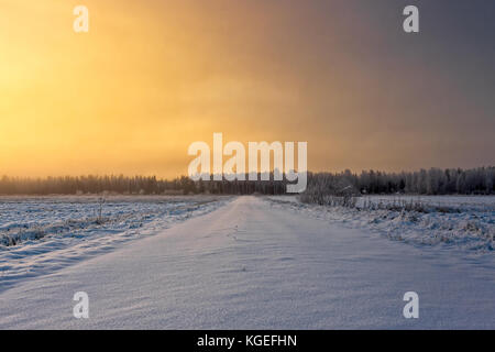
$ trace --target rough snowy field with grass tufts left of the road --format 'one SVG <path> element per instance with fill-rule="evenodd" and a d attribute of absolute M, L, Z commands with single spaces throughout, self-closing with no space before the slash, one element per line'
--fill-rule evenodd
<path fill-rule="evenodd" d="M 228 197 L 3 197 L 0 292 L 207 213 Z M 100 213 L 101 208 L 101 213 Z"/>

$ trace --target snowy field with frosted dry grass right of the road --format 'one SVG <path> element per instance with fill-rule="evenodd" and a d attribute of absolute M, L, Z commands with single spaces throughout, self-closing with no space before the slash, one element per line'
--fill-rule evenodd
<path fill-rule="evenodd" d="M 349 228 L 377 231 L 396 241 L 461 250 L 466 255 L 495 254 L 493 196 L 371 196 L 361 197 L 353 209 L 301 204 L 296 196 L 267 199 L 274 207 L 290 208 Z M 420 204 L 428 211 L 386 209 L 394 205 L 400 208 L 403 204 Z"/>

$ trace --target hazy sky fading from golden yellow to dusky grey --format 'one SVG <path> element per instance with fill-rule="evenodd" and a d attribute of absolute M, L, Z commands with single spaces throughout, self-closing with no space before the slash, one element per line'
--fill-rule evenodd
<path fill-rule="evenodd" d="M 494 38 L 485 0 L 0 0 L 0 174 L 175 177 L 213 132 L 311 170 L 494 165 Z"/>

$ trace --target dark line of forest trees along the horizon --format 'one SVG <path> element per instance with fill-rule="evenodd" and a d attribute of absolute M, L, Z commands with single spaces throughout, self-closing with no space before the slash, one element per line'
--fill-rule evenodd
<path fill-rule="evenodd" d="M 0 178 L 1 195 L 283 195 L 287 180 L 198 180 L 182 176 L 160 179 L 155 176 L 64 176 L 46 178 Z M 260 179 L 260 177 L 258 177 Z M 430 168 L 418 172 L 386 173 L 363 170 L 360 174 L 308 173 L 308 191 L 339 194 L 418 194 L 418 195 L 493 195 L 495 167 Z"/>

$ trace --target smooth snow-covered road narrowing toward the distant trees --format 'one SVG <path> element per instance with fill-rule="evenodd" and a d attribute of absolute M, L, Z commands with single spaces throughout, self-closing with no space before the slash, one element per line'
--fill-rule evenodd
<path fill-rule="evenodd" d="M 0 328 L 495 329 L 495 260 L 466 260 L 240 197 L 0 294 Z M 1 278 L 0 278 L 1 279 Z M 406 292 L 419 319 L 403 317 Z M 76 319 L 76 292 L 89 318 Z"/>

